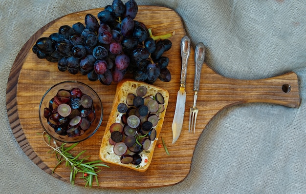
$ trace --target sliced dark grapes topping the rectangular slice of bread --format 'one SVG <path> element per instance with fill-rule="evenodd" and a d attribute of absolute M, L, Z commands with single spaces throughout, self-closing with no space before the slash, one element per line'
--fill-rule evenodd
<path fill-rule="evenodd" d="M 148 88 L 138 86 L 135 93 L 127 95 L 117 106 L 117 119 L 109 127 L 109 144 L 115 155 L 121 155 L 123 164 L 139 165 L 142 152 L 147 151 L 156 140 L 155 127 L 159 112 L 164 111 L 164 97 L 161 93 L 148 96 Z M 127 150 L 126 150 L 127 148 Z"/>

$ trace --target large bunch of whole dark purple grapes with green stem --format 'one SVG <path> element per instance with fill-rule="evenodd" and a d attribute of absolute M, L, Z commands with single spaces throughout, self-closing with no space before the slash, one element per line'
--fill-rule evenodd
<path fill-rule="evenodd" d="M 172 33 L 154 37 L 135 20 L 137 11 L 135 0 L 113 0 L 97 18 L 87 14 L 85 25 L 63 25 L 57 33 L 38 39 L 32 50 L 38 58 L 57 62 L 60 71 L 80 72 L 105 85 L 121 81 L 127 73 L 147 83 L 157 78 L 168 82 L 169 58 L 162 55 L 172 46 Z"/>

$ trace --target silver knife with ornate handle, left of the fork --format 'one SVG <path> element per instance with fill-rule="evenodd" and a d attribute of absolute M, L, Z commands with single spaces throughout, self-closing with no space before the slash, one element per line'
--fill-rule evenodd
<path fill-rule="evenodd" d="M 187 62 L 190 54 L 190 39 L 187 36 L 184 36 L 181 40 L 181 57 L 182 57 L 182 69 L 181 69 L 181 78 L 180 78 L 180 87 L 177 92 L 176 105 L 175 105 L 175 114 L 172 122 L 172 133 L 173 141 L 178 139 L 183 126 L 184 113 L 185 113 L 185 102 L 186 102 L 186 74 L 187 74 Z"/>

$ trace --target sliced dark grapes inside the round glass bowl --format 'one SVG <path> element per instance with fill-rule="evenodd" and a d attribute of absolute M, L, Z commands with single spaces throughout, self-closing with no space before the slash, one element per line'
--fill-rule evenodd
<path fill-rule="evenodd" d="M 95 119 L 93 100 L 79 88 L 60 89 L 44 108 L 44 117 L 58 135 L 81 136 Z"/>

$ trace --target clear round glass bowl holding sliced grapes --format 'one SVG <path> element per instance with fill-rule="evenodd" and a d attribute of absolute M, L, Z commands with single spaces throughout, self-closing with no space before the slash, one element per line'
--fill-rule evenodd
<path fill-rule="evenodd" d="M 68 125 L 68 127 L 63 127 L 62 130 L 58 130 L 58 124 L 59 121 L 56 121 L 56 119 L 47 119 L 44 116 L 44 109 L 47 107 L 49 108 L 52 107 L 52 102 L 55 103 L 53 101 L 53 98 L 57 95 L 58 91 L 61 89 L 65 89 L 65 90 L 71 90 L 73 88 L 79 88 L 82 91 L 82 94 L 86 94 L 88 96 L 90 96 L 92 98 L 92 107 L 90 107 L 89 109 L 92 109 L 95 113 L 95 117 L 94 119 L 91 118 L 91 120 L 93 121 L 89 121 L 91 122 L 90 127 L 86 130 L 81 130 L 81 127 L 76 127 L 76 130 L 70 130 L 69 131 L 69 135 L 66 135 L 66 129 L 70 128 L 70 125 Z M 51 103 L 50 103 L 51 100 Z M 70 102 L 67 102 L 67 104 Z M 81 109 L 83 107 L 81 106 L 78 110 L 81 112 Z M 53 109 L 53 108 L 52 108 Z M 52 110 L 51 109 L 51 110 Z M 56 109 L 56 108 L 54 108 Z M 54 112 L 54 111 L 53 111 Z M 55 111 L 57 112 L 57 111 Z M 70 116 L 66 116 L 67 119 L 71 119 L 72 114 L 70 114 Z M 84 116 L 84 115 L 82 115 Z M 54 116 L 56 117 L 56 116 Z M 55 84 L 54 86 L 52 86 L 50 89 L 48 89 L 46 91 L 46 93 L 44 94 L 40 105 L 39 105 L 39 119 L 41 121 L 41 124 L 44 128 L 44 131 L 52 138 L 54 138 L 57 141 L 60 142 L 64 142 L 64 143 L 76 143 L 76 142 L 80 142 L 80 141 L 84 141 L 87 138 L 91 137 L 93 134 L 96 133 L 96 131 L 98 130 L 98 128 L 100 127 L 101 123 L 102 123 L 102 117 L 103 117 L 103 107 L 102 107 L 102 102 L 99 98 L 99 96 L 97 95 L 97 93 L 90 88 L 88 85 L 86 85 L 85 83 L 79 82 L 79 81 L 64 81 L 58 84 Z M 60 116 L 60 118 L 63 118 L 63 116 Z M 87 118 L 87 117 L 86 117 Z M 90 119 L 87 119 L 90 120 Z M 83 122 L 83 120 L 81 121 Z M 63 125 L 61 125 L 63 126 Z M 64 125 L 65 126 L 65 125 Z M 80 126 L 79 124 L 76 126 Z M 56 133 L 57 131 L 57 133 Z M 72 131 L 72 132 L 71 132 Z M 61 133 L 62 132 L 62 133 Z M 74 133 L 74 134 L 73 134 Z M 60 135 L 61 134 L 61 135 Z"/>

